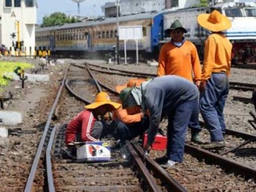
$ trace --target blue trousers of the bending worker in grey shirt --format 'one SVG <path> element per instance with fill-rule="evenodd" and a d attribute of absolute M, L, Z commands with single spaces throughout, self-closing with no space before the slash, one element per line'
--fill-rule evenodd
<path fill-rule="evenodd" d="M 166 155 L 169 160 L 182 162 L 186 130 L 193 110 L 198 106 L 197 98 L 192 101 L 185 101 L 178 104 L 175 110 L 168 115 Z"/>

